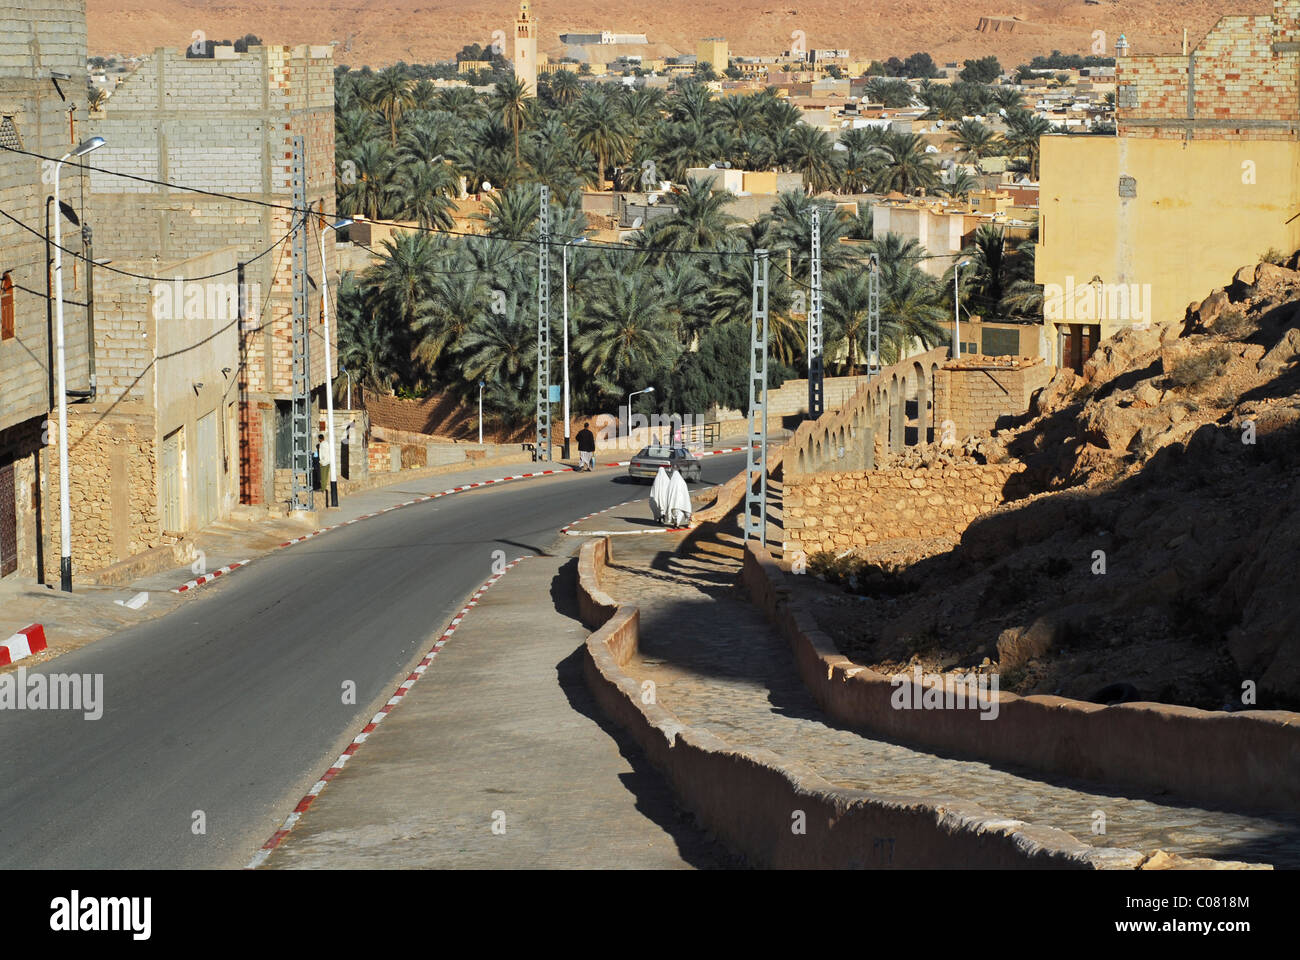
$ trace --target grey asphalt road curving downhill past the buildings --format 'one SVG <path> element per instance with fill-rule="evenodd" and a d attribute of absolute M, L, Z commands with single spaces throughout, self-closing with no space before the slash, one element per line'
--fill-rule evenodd
<path fill-rule="evenodd" d="M 742 455 L 705 464 L 720 483 Z M 490 575 L 493 552 L 542 553 L 564 523 L 645 496 L 620 473 L 395 510 L 51 662 L 103 674 L 104 715 L 0 713 L 0 868 L 243 866 Z"/>

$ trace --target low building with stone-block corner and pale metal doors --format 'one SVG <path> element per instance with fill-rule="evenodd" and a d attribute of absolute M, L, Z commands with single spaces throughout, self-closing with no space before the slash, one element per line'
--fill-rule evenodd
<path fill-rule="evenodd" d="M 68 411 L 77 575 L 173 544 L 235 502 L 238 255 L 230 246 L 162 265 L 113 261 L 174 281 L 96 276 L 96 395 Z M 53 475 L 56 447 L 49 459 Z M 51 576 L 57 563 L 47 554 Z"/>

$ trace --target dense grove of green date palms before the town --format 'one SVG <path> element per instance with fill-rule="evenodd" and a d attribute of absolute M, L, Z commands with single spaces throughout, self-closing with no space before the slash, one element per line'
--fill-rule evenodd
<path fill-rule="evenodd" d="M 968 176 L 942 177 L 919 137 L 857 129 L 835 140 L 801 124 L 800 111 L 772 91 L 714 99 L 693 81 L 666 94 L 581 83 L 562 72 L 542 78 L 530 98 L 508 73 L 486 95 L 436 88 L 428 75 L 428 68 L 396 65 L 377 73 L 339 68 L 335 77 L 339 211 L 424 228 L 395 233 L 376 248 L 377 264 L 341 282 L 341 360 L 370 389 L 442 390 L 469 399 L 484 381 L 494 418 L 525 423 L 536 384 L 537 186 L 545 183 L 551 196 L 558 342 L 559 245 L 585 232 L 582 189 L 612 180 L 636 190 L 647 170 L 682 183 L 688 168 L 723 163 L 798 172 L 806 191 L 781 194 L 767 215 L 742 222 L 728 211 L 731 194 L 685 183 L 666 198 L 671 215 L 651 220 L 630 245 L 568 247 L 575 410 L 612 410 L 629 390 L 651 384 L 656 406 L 673 411 L 742 408 L 758 248 L 771 251 L 771 382 L 806 369 L 814 206 L 822 207 L 828 372 L 857 373 L 868 359 L 868 252 L 881 269 L 881 360 L 945 342 L 952 276 L 924 273 L 926 252 L 915 241 L 894 234 L 871 241 L 866 204 L 857 217 L 837 216 L 824 196 L 962 195 L 975 187 Z M 1005 137 L 979 121 L 958 122 L 953 133 L 961 153 L 970 160 L 1011 155 L 1036 176 L 1037 138 L 1048 129 L 1020 108 L 1010 87 L 927 81 L 914 87 L 883 77 L 871 86 L 874 101 L 919 100 L 945 120 L 1005 111 Z M 462 177 L 472 193 L 493 187 L 485 235 L 450 232 Z M 962 259 L 970 261 L 961 273 L 967 310 L 1024 317 L 1040 306 L 1032 241 L 1013 243 L 982 228 Z"/>

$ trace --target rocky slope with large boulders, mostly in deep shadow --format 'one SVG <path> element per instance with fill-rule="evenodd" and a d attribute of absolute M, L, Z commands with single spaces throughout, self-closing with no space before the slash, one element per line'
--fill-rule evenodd
<path fill-rule="evenodd" d="M 867 596 L 823 626 L 862 662 L 996 662 L 1022 693 L 1300 708 L 1296 260 L 1058 375 L 1026 423 L 967 447 L 1044 492 L 952 550 L 883 544 L 853 571 Z"/>

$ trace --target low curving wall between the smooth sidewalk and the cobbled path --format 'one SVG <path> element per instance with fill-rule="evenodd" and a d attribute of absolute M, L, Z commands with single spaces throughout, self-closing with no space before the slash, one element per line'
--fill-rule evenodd
<path fill-rule="evenodd" d="M 640 611 L 599 585 L 610 540 L 578 554 L 578 607 L 595 628 L 584 676 L 601 709 L 627 730 L 706 830 L 759 866 L 1141 869 L 1136 851 L 1098 848 L 1061 830 L 998 818 L 974 804 L 893 800 L 836 787 L 762 749 L 741 749 L 642 702 L 624 671 L 637 652 Z M 802 814 L 805 833 L 794 825 Z"/>

